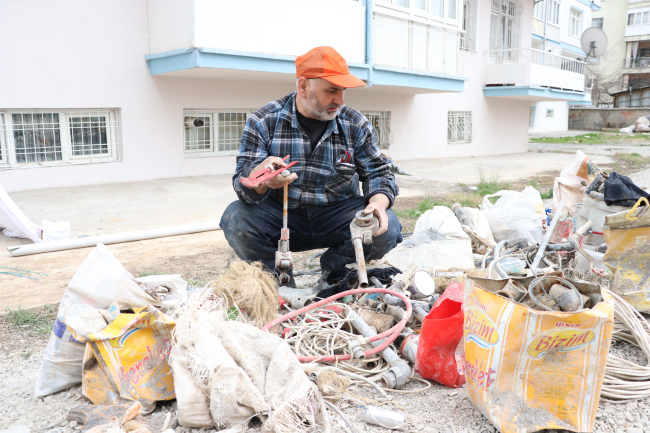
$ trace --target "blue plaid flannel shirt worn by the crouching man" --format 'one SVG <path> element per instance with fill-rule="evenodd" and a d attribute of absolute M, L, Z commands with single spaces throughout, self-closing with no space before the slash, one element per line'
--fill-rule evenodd
<path fill-rule="evenodd" d="M 264 194 L 257 194 L 243 186 L 239 178 L 249 176 L 253 168 L 268 156 L 283 158 L 290 155 L 288 162 L 298 161 L 291 168 L 298 179 L 289 185 L 289 208 L 330 205 L 360 197 L 359 181 L 363 184 L 366 204 L 370 197 L 382 193 L 392 206 L 399 188 L 390 171 L 390 163 L 379 152 L 368 119 L 357 110 L 342 106 L 312 152 L 309 138 L 298 123 L 295 106 L 294 92 L 266 104 L 251 114 L 246 122 L 237 155 L 237 169 L 232 178 L 239 199 L 256 204 L 270 195 L 282 203 L 282 189 L 269 188 Z M 350 149 L 354 149 L 356 173 L 338 174 L 334 165 Z"/>

